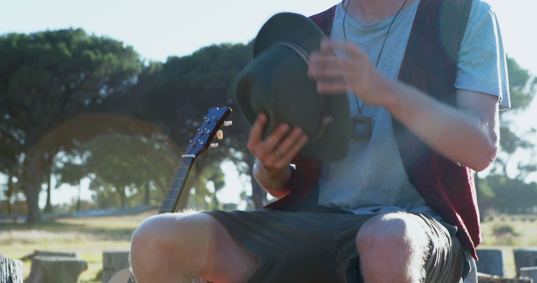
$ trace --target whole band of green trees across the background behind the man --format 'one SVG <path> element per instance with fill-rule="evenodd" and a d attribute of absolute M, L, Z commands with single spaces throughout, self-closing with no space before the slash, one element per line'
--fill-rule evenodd
<path fill-rule="evenodd" d="M 250 127 L 232 97 L 234 78 L 250 54 L 251 43 L 218 44 L 143 63 L 132 47 L 82 29 L 0 36 L 0 172 L 9 176 L 6 192 L 23 189 L 30 222 L 39 221 L 43 184 L 50 196 L 50 176 L 58 185 L 75 186 L 88 178 L 99 208 L 158 204 L 207 110 L 228 106 L 234 124 L 224 128 L 219 147 L 194 163 L 179 206 L 236 207 L 216 193 L 225 185 L 222 162 L 251 173 L 254 159 L 245 146 Z M 510 204 L 531 204 L 517 202 L 512 192 L 537 197 L 535 183 L 526 182 L 537 163 L 513 158 L 520 151 L 534 154 L 535 130 L 518 131 L 513 117 L 527 110 L 537 79 L 512 58 L 507 64 L 513 109 L 500 114 L 501 152 L 482 180 L 480 205 L 513 211 Z M 517 167 L 517 176 L 507 175 L 509 166 Z M 266 195 L 251 180 L 253 196 L 241 195 L 260 207 Z"/>

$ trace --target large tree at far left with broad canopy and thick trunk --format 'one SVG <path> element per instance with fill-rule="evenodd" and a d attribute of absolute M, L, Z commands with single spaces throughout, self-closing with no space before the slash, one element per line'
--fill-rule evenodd
<path fill-rule="evenodd" d="M 0 36 L 0 136 L 20 144 L 10 156 L 23 168 L 28 222 L 40 220 L 38 196 L 50 160 L 79 142 L 74 133 L 50 133 L 125 91 L 141 68 L 132 47 L 82 29 Z"/>

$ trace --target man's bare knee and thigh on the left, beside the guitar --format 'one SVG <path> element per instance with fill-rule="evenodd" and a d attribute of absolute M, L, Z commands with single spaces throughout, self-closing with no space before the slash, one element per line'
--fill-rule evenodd
<path fill-rule="evenodd" d="M 139 283 L 246 282 L 259 265 L 216 219 L 206 213 L 166 213 L 148 218 L 133 234 L 130 261 Z"/>

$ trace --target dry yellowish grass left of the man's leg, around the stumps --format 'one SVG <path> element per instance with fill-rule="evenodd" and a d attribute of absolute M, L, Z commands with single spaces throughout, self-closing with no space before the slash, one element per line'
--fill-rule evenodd
<path fill-rule="evenodd" d="M 101 282 L 103 251 L 129 250 L 130 236 L 141 222 L 156 211 L 116 217 L 65 218 L 39 225 L 8 224 L 0 228 L 0 254 L 21 258 L 34 250 L 77 252 L 88 262 L 81 283 Z M 23 262 L 23 276 L 31 262 Z"/>

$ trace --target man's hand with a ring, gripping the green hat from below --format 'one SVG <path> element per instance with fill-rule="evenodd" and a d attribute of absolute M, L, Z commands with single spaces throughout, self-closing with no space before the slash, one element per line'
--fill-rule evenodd
<path fill-rule="evenodd" d="M 282 189 L 291 177 L 289 163 L 306 145 L 308 137 L 300 128 L 295 128 L 288 133 L 289 125 L 280 124 L 269 137 L 261 140 L 268 120 L 263 113 L 257 116 L 246 147 L 257 158 L 253 170 L 257 182 L 271 195 L 282 197 L 287 193 Z"/>

